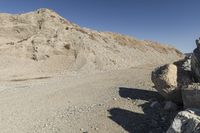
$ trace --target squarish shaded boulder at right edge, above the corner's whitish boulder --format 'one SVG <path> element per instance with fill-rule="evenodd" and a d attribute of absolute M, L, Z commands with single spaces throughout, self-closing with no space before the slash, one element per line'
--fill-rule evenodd
<path fill-rule="evenodd" d="M 193 83 L 183 87 L 182 99 L 185 108 L 200 109 L 200 83 Z"/>

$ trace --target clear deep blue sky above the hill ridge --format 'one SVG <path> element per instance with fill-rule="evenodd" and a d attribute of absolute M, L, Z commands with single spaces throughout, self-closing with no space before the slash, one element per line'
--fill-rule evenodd
<path fill-rule="evenodd" d="M 0 0 L 0 12 L 50 8 L 80 26 L 195 48 L 200 36 L 200 0 Z"/>

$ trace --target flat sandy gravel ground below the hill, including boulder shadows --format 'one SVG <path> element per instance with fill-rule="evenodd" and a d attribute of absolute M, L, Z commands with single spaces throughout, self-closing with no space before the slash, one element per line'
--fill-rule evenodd
<path fill-rule="evenodd" d="M 0 82 L 1 133 L 161 132 L 168 113 L 151 109 L 154 67 Z M 152 124 L 153 123 L 153 124 Z"/>

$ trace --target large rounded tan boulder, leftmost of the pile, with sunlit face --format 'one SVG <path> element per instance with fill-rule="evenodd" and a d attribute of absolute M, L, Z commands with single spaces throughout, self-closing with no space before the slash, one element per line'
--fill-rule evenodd
<path fill-rule="evenodd" d="M 177 66 L 167 64 L 152 72 L 151 80 L 155 89 L 167 100 L 181 102 L 181 90 L 177 83 Z"/>

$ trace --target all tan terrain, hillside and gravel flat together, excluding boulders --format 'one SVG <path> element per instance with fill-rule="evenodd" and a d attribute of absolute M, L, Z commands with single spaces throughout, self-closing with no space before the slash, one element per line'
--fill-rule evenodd
<path fill-rule="evenodd" d="M 166 131 L 181 107 L 154 90 L 151 72 L 183 57 L 157 42 L 81 28 L 49 9 L 1 13 L 0 131 Z"/>

